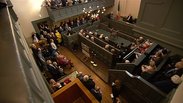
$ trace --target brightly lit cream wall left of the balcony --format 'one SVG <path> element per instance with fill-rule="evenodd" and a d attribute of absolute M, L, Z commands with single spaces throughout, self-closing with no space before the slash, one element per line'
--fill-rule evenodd
<path fill-rule="evenodd" d="M 11 0 L 25 38 L 30 41 L 34 32 L 31 21 L 48 17 L 46 8 L 41 7 L 43 0 Z"/>

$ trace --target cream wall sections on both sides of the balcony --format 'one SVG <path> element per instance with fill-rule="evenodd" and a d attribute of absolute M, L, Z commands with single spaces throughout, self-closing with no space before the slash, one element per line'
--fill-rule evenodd
<path fill-rule="evenodd" d="M 30 39 L 31 33 L 34 32 L 31 21 L 48 17 L 48 13 L 44 7 L 41 8 L 43 0 L 11 0 L 13 9 L 15 10 L 23 33 L 26 39 Z M 115 0 L 115 6 L 111 11 L 117 13 L 119 0 Z M 138 16 L 141 0 L 120 0 L 120 15 L 134 17 Z"/>

